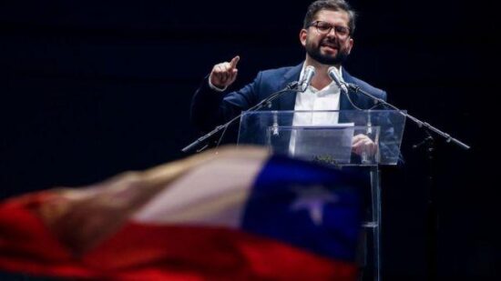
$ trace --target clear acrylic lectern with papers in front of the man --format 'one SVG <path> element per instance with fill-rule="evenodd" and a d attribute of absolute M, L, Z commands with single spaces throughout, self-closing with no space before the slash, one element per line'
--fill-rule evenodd
<path fill-rule="evenodd" d="M 267 146 L 282 154 L 329 166 L 364 166 L 371 176 L 371 208 L 363 227 L 369 228 L 373 245 L 371 266 L 374 280 L 381 265 L 381 165 L 396 165 L 404 134 L 404 111 L 256 111 L 240 119 L 239 145 Z M 304 124 L 308 125 L 304 125 Z M 353 137 L 366 135 L 376 149 L 352 151 Z M 370 248 L 370 249 L 369 249 Z M 371 259 L 371 258 L 369 258 Z"/>

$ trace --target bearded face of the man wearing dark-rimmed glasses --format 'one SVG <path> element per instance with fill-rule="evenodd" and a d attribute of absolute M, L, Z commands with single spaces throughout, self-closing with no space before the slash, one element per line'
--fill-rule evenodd
<path fill-rule="evenodd" d="M 322 65 L 342 64 L 352 51 L 353 38 L 350 34 L 343 35 L 337 32 L 336 27 L 347 28 L 348 22 L 348 13 L 344 11 L 319 11 L 313 23 L 317 23 L 320 28 L 312 25 L 307 29 L 302 29 L 300 33 L 300 40 L 306 53 Z M 328 29 L 325 26 L 336 27 Z"/>

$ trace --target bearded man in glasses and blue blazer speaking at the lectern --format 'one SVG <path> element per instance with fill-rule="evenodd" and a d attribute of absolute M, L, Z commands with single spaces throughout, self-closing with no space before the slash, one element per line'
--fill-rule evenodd
<path fill-rule="evenodd" d="M 355 12 L 344 0 L 313 2 L 308 7 L 299 35 L 306 50 L 306 59 L 302 64 L 262 71 L 254 82 L 227 95 L 223 92 L 237 78 L 240 56 L 235 56 L 230 62 L 214 65 L 193 97 L 192 121 L 204 130 L 223 124 L 291 82 L 301 81 L 308 65 L 314 66 L 316 70 L 311 85 L 302 93 L 281 96 L 273 103 L 271 110 L 350 110 L 355 109 L 354 106 L 371 108 L 373 100 L 362 95 L 348 98 L 328 75 L 329 67 L 335 66 L 344 82 L 358 85 L 364 91 L 386 99 L 385 92 L 349 75 L 342 67 L 353 48 L 354 29 Z M 324 115 L 320 119 L 317 124 L 308 124 L 308 121 L 294 117 L 293 125 L 338 122 L 338 116 L 334 114 Z M 366 135 L 355 135 L 352 148 L 358 155 L 363 151 L 373 154 L 376 150 L 375 144 Z"/>

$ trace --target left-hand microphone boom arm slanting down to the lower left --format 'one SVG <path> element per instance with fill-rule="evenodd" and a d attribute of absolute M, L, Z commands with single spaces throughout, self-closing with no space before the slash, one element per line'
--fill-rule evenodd
<path fill-rule="evenodd" d="M 306 90 L 305 88 L 298 89 L 299 85 L 300 84 L 297 81 L 291 82 L 290 84 L 286 85 L 285 88 L 283 88 L 280 91 L 275 92 L 275 93 L 271 94 L 270 96 L 268 96 L 267 98 L 261 100 L 261 102 L 259 104 L 252 106 L 246 112 L 258 111 L 262 107 L 264 107 L 265 105 L 271 105 L 272 101 L 274 101 L 275 99 L 281 97 L 281 95 L 284 95 L 284 94 L 286 94 L 288 92 L 303 92 L 304 90 Z M 192 151 L 196 147 L 200 146 L 204 141 L 206 141 L 207 139 L 209 139 L 212 135 L 216 135 L 222 129 L 227 128 L 229 125 L 231 125 L 235 121 L 239 120 L 240 117 L 241 117 L 241 115 L 243 115 L 243 113 L 240 113 L 240 115 L 234 117 L 233 119 L 231 119 L 230 121 L 228 121 L 227 123 L 225 123 L 223 125 L 218 125 L 216 128 L 214 128 L 208 134 L 200 136 L 199 139 L 197 139 L 193 143 L 191 143 L 188 146 L 186 146 L 183 149 L 181 149 L 181 151 L 185 152 L 185 153 L 188 153 L 188 152 Z M 204 150 L 206 147 L 207 147 L 207 145 L 203 146 L 201 149 L 197 150 L 197 152 L 200 152 L 200 151 Z"/>

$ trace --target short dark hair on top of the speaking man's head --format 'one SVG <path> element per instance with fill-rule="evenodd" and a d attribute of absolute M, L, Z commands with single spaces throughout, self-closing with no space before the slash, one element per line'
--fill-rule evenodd
<path fill-rule="evenodd" d="M 308 28 L 308 26 L 312 24 L 313 17 L 322 10 L 344 11 L 348 13 L 348 17 L 350 18 L 348 27 L 350 27 L 350 34 L 353 35 L 355 31 L 356 12 L 352 9 L 352 6 L 344 0 L 317 0 L 313 2 L 308 6 L 308 11 L 306 15 L 304 15 L 302 28 Z"/>

